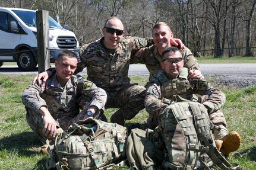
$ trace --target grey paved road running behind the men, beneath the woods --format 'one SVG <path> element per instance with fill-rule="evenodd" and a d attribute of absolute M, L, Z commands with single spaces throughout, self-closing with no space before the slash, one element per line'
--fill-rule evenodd
<path fill-rule="evenodd" d="M 225 76 L 225 75 L 250 75 L 256 76 L 256 63 L 253 64 L 201 64 L 201 71 L 203 75 L 208 76 Z M 18 69 L 18 66 L 2 66 L 0 68 L 0 74 L 27 74 L 33 72 L 22 72 Z M 82 74 L 86 74 L 86 69 L 83 70 Z M 129 68 L 130 76 L 148 76 L 148 70 L 145 65 L 137 64 L 131 65 Z"/>

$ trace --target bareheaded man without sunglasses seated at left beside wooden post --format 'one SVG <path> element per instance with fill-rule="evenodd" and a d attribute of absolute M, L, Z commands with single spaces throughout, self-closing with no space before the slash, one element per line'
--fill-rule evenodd
<path fill-rule="evenodd" d="M 22 95 L 27 123 L 43 143 L 55 137 L 58 127 L 66 130 L 78 120 L 102 113 L 107 97 L 93 82 L 73 75 L 77 68 L 73 52 L 61 52 L 55 66 L 45 85 L 30 85 Z"/>

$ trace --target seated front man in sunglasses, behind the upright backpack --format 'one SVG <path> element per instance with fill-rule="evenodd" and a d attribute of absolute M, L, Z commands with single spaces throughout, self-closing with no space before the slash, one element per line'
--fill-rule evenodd
<path fill-rule="evenodd" d="M 203 79 L 188 79 L 188 69 L 184 68 L 184 59 L 176 47 L 167 47 L 162 53 L 163 70 L 156 72 L 147 86 L 145 107 L 150 114 L 147 125 L 154 129 L 160 123 L 160 117 L 165 107 L 170 104 L 176 95 L 186 100 L 198 101 L 207 110 L 213 124 L 219 126 L 213 133 L 216 139 L 221 140 L 220 151 L 225 156 L 237 150 L 241 144 L 241 138 L 236 131 L 228 133 L 225 117 L 217 117 L 226 101 L 225 94 L 217 88 L 213 88 Z"/>

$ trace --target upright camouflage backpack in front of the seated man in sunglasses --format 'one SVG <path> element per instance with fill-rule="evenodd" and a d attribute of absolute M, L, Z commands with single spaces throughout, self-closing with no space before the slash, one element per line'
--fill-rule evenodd
<path fill-rule="evenodd" d="M 182 101 L 168 105 L 155 129 L 166 145 L 162 165 L 166 169 L 234 169 L 217 150 L 212 128 L 203 104 Z"/>

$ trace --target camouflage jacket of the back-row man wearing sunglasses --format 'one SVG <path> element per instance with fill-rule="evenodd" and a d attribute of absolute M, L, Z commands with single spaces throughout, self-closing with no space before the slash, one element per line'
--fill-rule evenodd
<path fill-rule="evenodd" d="M 105 49 L 103 40 L 104 37 L 87 46 L 80 55 L 81 62 L 78 63 L 75 73 L 87 68 L 87 79 L 103 89 L 115 89 L 129 84 L 128 69 L 131 54 L 141 47 L 153 44 L 153 39 L 123 37 L 113 53 Z"/>

